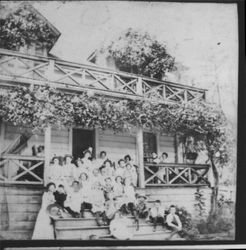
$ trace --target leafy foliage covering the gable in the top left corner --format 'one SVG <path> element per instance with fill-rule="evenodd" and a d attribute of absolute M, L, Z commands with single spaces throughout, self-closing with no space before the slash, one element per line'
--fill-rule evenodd
<path fill-rule="evenodd" d="M 1 48 L 18 50 L 34 41 L 51 47 L 55 38 L 47 23 L 29 11 L 25 5 L 7 17 L 0 18 Z"/>

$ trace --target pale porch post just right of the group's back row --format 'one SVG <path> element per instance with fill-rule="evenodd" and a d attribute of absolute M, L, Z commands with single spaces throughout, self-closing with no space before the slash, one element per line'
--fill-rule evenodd
<path fill-rule="evenodd" d="M 144 147 L 143 147 L 143 129 L 137 128 L 137 153 L 138 153 L 138 167 L 139 167 L 139 187 L 145 187 L 144 179 Z"/>

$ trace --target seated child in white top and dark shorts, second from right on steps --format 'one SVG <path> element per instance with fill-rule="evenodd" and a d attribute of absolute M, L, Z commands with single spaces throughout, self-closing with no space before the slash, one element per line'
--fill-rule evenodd
<path fill-rule="evenodd" d="M 161 223 L 162 227 L 164 227 L 164 216 L 165 209 L 161 207 L 161 201 L 156 200 L 154 202 L 154 206 L 150 209 L 149 218 L 152 223 L 154 223 L 153 232 L 156 231 L 157 223 Z"/>

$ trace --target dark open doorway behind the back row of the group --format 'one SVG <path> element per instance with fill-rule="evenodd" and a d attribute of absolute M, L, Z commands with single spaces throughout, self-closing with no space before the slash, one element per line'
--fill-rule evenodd
<path fill-rule="evenodd" d="M 87 129 L 73 129 L 73 148 L 72 154 L 74 159 L 83 156 L 83 151 L 89 147 L 93 148 L 92 157 L 95 157 L 95 131 Z"/>

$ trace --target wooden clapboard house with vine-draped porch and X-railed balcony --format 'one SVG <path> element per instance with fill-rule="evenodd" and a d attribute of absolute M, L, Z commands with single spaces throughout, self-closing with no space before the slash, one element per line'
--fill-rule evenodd
<path fill-rule="evenodd" d="M 34 11 L 30 5 L 26 8 Z M 37 10 L 35 12 L 38 13 Z M 46 20 L 40 13 L 38 16 Z M 48 25 L 58 38 L 60 32 L 49 22 Z M 28 51 L 22 48 L 18 52 L 0 49 L 0 91 L 17 84 L 42 86 L 48 82 L 50 86 L 69 93 L 89 90 L 94 95 L 103 94 L 119 99 L 141 99 L 151 91 L 157 91 L 167 102 L 205 99 L 204 89 L 68 62 L 50 56 L 47 53 L 50 48 L 40 47 L 35 42 L 32 46 Z M 42 48 L 43 52 L 38 48 Z M 40 145 L 44 146 L 44 154 L 33 156 L 32 147 Z M 76 157 L 88 146 L 94 148 L 95 156 L 105 150 L 113 161 L 125 154 L 131 155 L 139 169 L 138 192 L 148 195 L 150 201 L 158 198 L 165 206 L 175 204 L 194 213 L 195 192 L 199 187 L 204 193 L 209 212 L 212 191 L 207 175 L 210 167 L 185 163 L 175 134 L 153 133 L 139 127 L 129 133 L 115 134 L 110 130 L 76 126 L 63 129 L 48 127 L 44 133 L 33 134 L 28 127 L 2 122 L 0 236 L 3 239 L 31 237 L 44 190 L 43 175 L 37 174 L 36 170 L 44 166 L 45 171 L 54 155 L 69 153 Z M 167 180 L 161 183 L 153 183 L 158 171 L 153 171 L 153 163 L 146 160 L 153 151 L 159 154 L 167 152 L 169 155 L 170 163 L 154 166 L 166 170 Z M 194 177 L 201 178 L 197 182 Z"/>

